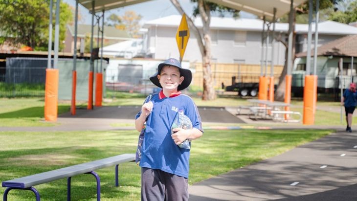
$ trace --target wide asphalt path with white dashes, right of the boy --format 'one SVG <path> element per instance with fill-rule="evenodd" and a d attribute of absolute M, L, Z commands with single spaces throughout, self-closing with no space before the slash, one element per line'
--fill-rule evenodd
<path fill-rule="evenodd" d="M 339 132 L 196 183 L 190 201 L 356 201 L 356 138 Z"/>

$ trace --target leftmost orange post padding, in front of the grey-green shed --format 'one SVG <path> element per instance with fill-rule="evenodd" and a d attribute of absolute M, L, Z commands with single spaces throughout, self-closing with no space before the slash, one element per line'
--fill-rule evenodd
<path fill-rule="evenodd" d="M 46 69 L 45 120 L 57 121 L 58 69 Z"/>

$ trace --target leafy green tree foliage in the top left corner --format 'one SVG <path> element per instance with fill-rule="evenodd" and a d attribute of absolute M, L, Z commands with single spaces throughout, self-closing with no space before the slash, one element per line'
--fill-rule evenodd
<path fill-rule="evenodd" d="M 0 0 L 0 13 L 0 30 L 11 43 L 34 49 L 48 46 L 49 0 Z M 55 12 L 53 15 L 54 24 Z M 69 5 L 61 2 L 60 41 L 65 39 L 66 24 L 72 16 Z"/>

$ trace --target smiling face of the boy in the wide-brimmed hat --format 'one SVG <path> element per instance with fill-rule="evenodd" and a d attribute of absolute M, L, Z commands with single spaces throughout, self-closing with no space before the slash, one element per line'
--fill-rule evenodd
<path fill-rule="evenodd" d="M 177 88 L 182 83 L 184 77 L 180 76 L 180 71 L 178 67 L 174 66 L 164 66 L 161 68 L 160 74 L 157 78 L 165 91 L 175 92 Z"/>

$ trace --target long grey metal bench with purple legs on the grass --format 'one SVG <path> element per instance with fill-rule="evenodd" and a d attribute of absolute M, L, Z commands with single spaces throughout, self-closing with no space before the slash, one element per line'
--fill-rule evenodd
<path fill-rule="evenodd" d="M 100 178 L 94 171 L 115 165 L 115 186 L 119 186 L 118 166 L 120 163 L 129 161 L 135 161 L 135 154 L 122 154 L 118 156 L 112 156 L 100 160 L 39 173 L 36 175 L 2 181 L 2 187 L 7 187 L 4 191 L 3 201 L 7 201 L 7 194 L 12 189 L 30 190 L 35 193 L 36 201 L 40 201 L 40 194 L 33 186 L 64 178 L 67 178 L 67 201 L 70 201 L 71 177 L 80 174 L 91 174 L 95 177 L 97 181 L 97 201 L 100 201 Z"/>

